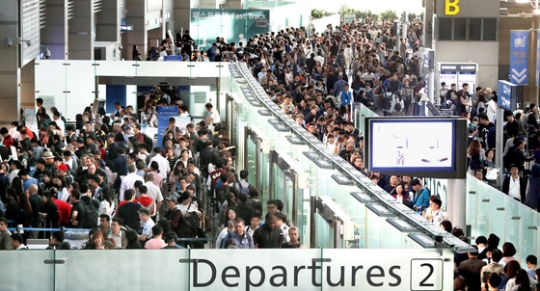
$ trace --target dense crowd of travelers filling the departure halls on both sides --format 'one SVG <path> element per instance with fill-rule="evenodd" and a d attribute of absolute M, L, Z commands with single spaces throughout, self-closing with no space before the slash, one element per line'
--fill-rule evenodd
<path fill-rule="evenodd" d="M 351 118 L 351 104 L 360 102 L 384 115 L 420 115 L 426 101 L 421 74 L 422 23 L 413 21 L 405 38 L 391 34 L 392 23 L 373 19 L 329 25 L 324 32 L 287 28 L 255 35 L 247 43 L 218 37 L 206 51 L 210 61 L 245 62 L 283 111 L 326 147 L 368 176 L 398 201 L 428 221 L 469 242 L 452 227 L 441 199 L 431 195 L 422 177 L 370 172 L 364 166 L 364 138 Z M 162 57 L 170 37 L 152 52 Z M 185 60 L 202 59 L 186 31 L 176 46 Z M 133 58 L 140 58 L 133 48 Z M 531 208 L 539 208 L 540 151 L 538 110 L 506 112 L 504 149 L 495 149 L 497 93 L 490 88 L 470 92 L 442 84 L 436 103 L 469 119 L 468 165 L 471 174 L 493 183 L 494 156 L 504 155 L 502 190 Z M 156 86 L 138 112 L 116 104 L 112 115 L 87 108 L 75 125 L 54 107 L 37 100 L 39 132 L 18 122 L 2 128 L 0 147 L 0 249 L 25 249 L 24 241 L 46 231 L 11 234 L 7 228 L 90 228 L 90 249 L 204 247 L 215 232 L 216 248 L 300 248 L 299 229 L 282 212 L 283 202 L 269 200 L 266 209 L 246 170 L 234 169 L 227 130 L 211 104 L 207 118 L 185 129 L 169 120 L 162 144 L 143 131 L 156 127 L 157 105 L 179 105 L 173 90 Z M 524 144 L 528 150 L 524 151 Z M 13 151 L 13 149 L 15 151 Z M 16 156 L 13 154 L 16 153 Z M 9 160 L 8 156 L 12 155 Z M 527 163 L 535 160 L 534 165 Z M 501 174 L 503 174 L 501 173 Z M 68 248 L 62 232 L 50 234 L 51 247 Z M 472 242 L 471 242 L 472 243 Z M 476 251 L 456 254 L 455 290 L 531 290 L 538 281 L 537 258 L 520 266 L 517 250 L 499 238 L 479 236 Z"/>

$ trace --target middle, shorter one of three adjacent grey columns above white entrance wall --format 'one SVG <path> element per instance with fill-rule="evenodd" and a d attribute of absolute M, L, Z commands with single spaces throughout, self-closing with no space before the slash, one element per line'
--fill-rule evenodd
<path fill-rule="evenodd" d="M 102 8 L 96 14 L 96 40 L 119 42 L 120 11 L 118 0 L 101 2 Z"/>

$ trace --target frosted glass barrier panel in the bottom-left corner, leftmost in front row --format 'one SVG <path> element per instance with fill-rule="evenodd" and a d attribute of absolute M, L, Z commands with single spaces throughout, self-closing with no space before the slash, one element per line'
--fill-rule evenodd
<path fill-rule="evenodd" d="M 19 290 L 61 290 L 55 286 L 54 251 L 0 251 L 0 289 Z"/>

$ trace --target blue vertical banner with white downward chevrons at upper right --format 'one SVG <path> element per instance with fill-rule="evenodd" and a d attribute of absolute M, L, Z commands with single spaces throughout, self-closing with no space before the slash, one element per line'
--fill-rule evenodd
<path fill-rule="evenodd" d="M 529 84 L 529 31 L 510 31 L 510 82 Z"/>

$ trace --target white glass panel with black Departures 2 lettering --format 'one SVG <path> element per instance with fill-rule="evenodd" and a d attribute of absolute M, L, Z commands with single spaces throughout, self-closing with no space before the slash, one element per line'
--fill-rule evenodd
<path fill-rule="evenodd" d="M 452 290 L 437 250 L 192 250 L 191 290 Z"/>

